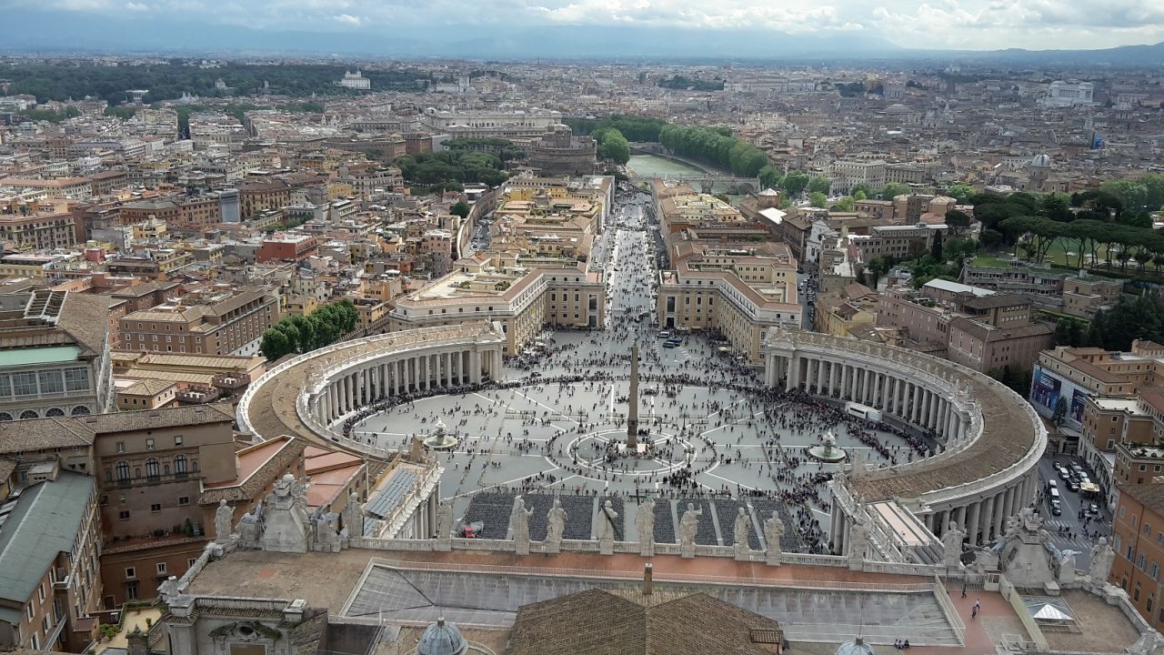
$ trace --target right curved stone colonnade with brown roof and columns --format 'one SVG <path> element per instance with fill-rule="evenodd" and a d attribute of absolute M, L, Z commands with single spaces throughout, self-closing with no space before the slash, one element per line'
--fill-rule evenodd
<path fill-rule="evenodd" d="M 895 466 L 857 466 L 832 484 L 833 551 L 845 552 L 864 503 L 895 500 L 942 536 L 951 521 L 987 543 L 1038 487 L 1046 428 L 1030 404 L 994 379 L 945 359 L 817 332 L 772 329 L 766 383 L 881 410 L 883 420 L 932 435 L 942 452 Z"/>

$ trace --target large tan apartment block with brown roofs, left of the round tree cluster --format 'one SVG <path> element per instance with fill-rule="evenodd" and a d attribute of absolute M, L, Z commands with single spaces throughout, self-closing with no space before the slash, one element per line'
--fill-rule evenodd
<path fill-rule="evenodd" d="M 274 291 L 215 286 L 127 314 L 118 324 L 122 350 L 249 355 L 278 319 Z"/>

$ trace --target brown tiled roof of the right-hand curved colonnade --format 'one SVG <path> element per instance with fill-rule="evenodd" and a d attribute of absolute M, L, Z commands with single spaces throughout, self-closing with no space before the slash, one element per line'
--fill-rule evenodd
<path fill-rule="evenodd" d="M 872 341 L 782 329 L 769 330 L 765 344 L 772 348 L 792 347 L 805 355 L 814 351 L 842 351 L 844 361 L 856 366 L 881 359 L 886 371 L 901 371 L 907 379 L 913 373 L 910 368 L 918 374 L 924 372 L 949 386 L 935 388 L 923 380 L 920 383 L 947 401 L 973 403 L 981 411 L 981 435 L 947 457 L 854 473 L 850 487 L 865 501 L 914 499 L 970 485 L 1001 473 L 1022 462 L 1031 449 L 1042 448 L 1038 442 L 1045 429 L 1022 397 L 1001 382 L 952 361 Z"/>

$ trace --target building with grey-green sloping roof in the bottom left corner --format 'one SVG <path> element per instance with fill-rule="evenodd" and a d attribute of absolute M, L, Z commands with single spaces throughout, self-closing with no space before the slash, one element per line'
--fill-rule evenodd
<path fill-rule="evenodd" d="M 97 485 L 47 462 L 0 500 L 0 647 L 80 653 L 97 636 Z"/>

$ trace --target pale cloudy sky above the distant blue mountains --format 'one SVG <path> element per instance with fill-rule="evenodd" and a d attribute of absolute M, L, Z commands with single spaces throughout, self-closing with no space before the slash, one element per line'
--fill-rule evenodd
<path fill-rule="evenodd" d="M 0 0 L 0 15 L 21 7 L 317 31 L 474 23 L 768 28 L 971 50 L 1164 41 L 1164 0 Z"/>

